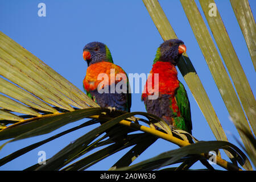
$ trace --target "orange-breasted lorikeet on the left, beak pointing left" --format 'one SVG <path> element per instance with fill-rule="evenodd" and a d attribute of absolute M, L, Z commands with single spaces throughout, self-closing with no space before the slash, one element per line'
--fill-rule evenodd
<path fill-rule="evenodd" d="M 121 67 L 113 63 L 109 48 L 100 42 L 88 43 L 83 49 L 83 57 L 88 64 L 83 81 L 87 95 L 101 107 L 130 112 L 131 94 L 128 92 L 128 77 Z M 102 79 L 98 79 L 98 76 L 102 73 L 106 76 L 104 85 L 102 85 Z M 117 79 L 118 74 L 123 77 Z M 120 93 L 116 92 L 115 85 L 121 80 L 126 82 L 127 90 Z M 105 88 L 106 86 L 108 88 Z M 120 88 L 122 89 L 122 85 Z M 102 89 L 104 89 L 104 92 Z"/>

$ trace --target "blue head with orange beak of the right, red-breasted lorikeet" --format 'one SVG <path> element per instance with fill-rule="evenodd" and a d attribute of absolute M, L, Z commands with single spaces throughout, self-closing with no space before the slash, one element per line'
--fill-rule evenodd
<path fill-rule="evenodd" d="M 166 40 L 158 48 L 154 63 L 156 61 L 164 61 L 164 62 L 168 61 L 176 65 L 180 55 L 182 55 L 182 53 L 184 53 L 185 51 L 186 51 L 186 47 L 181 40 L 179 39 Z"/>

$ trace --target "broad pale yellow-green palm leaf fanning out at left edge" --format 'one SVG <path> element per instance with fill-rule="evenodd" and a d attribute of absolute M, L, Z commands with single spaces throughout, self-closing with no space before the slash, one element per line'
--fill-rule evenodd
<path fill-rule="evenodd" d="M 90 100 L 75 85 L 53 71 L 53 69 L 49 68 L 36 56 L 19 46 L 19 44 L 2 32 L 0 32 L 0 45 L 0 74 L 10 84 L 13 82 L 29 92 L 26 93 L 27 95 L 32 94 L 34 97 L 36 96 L 38 99 L 40 98 L 40 100 L 47 102 L 48 105 L 57 106 L 69 111 L 74 110 L 71 105 L 80 109 L 87 108 L 88 105 L 98 107 L 95 102 Z M 5 92 L 5 94 L 14 97 L 16 100 L 24 101 L 24 97 L 22 97 L 24 92 L 20 92 L 20 89 L 10 86 L 10 84 L 7 88 L 15 88 L 15 90 L 11 93 Z M 17 91 L 19 94 L 16 94 Z M 33 97 L 32 95 L 30 97 Z M 57 112 L 55 109 L 46 106 L 46 104 L 42 104 L 42 101 L 40 102 L 38 99 L 33 98 L 29 102 L 36 100 L 36 105 L 43 108 L 47 107 L 47 110 L 38 109 L 51 111 L 52 113 Z M 25 103 L 28 104 L 27 102 Z M 28 104 L 28 106 L 31 105 Z"/>

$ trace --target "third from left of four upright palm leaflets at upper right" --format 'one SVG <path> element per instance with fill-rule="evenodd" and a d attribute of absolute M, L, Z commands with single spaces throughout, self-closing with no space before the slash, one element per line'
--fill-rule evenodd
<path fill-rule="evenodd" d="M 210 3 L 214 3 L 214 1 L 200 0 L 201 7 L 205 14 L 205 18 L 208 21 L 210 30 L 212 31 L 212 34 L 214 36 L 214 39 L 216 40 L 218 48 L 220 49 L 221 56 L 225 61 L 225 65 L 228 68 L 230 76 L 232 77 L 234 86 L 236 87 L 243 109 L 245 110 L 247 118 L 250 121 L 251 127 L 255 134 L 256 133 L 256 119 L 255 119 L 256 113 L 254 112 L 254 110 L 256 110 L 256 102 L 253 96 L 253 92 L 251 91 L 251 87 L 249 85 L 249 82 L 247 81 L 245 72 L 242 69 L 242 66 L 240 64 L 240 61 L 238 60 L 236 52 L 234 51 L 234 48 L 228 36 L 228 32 L 226 32 L 226 28 L 224 26 L 224 23 L 221 20 L 221 16 L 218 13 L 218 10 L 216 9 L 216 16 L 208 15 L 208 11 L 209 11 L 208 5 Z"/>

